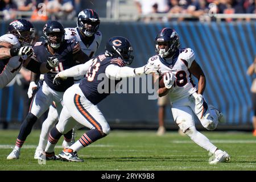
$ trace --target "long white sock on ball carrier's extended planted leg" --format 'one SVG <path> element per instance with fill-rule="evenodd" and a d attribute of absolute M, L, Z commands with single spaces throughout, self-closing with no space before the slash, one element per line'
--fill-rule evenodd
<path fill-rule="evenodd" d="M 211 152 L 212 154 L 214 154 L 214 152 L 216 151 L 217 147 L 210 143 L 210 140 L 205 137 L 205 135 L 197 131 L 195 126 L 190 127 L 185 132 L 185 134 L 187 134 L 188 137 L 193 140 L 193 142 L 198 144 L 200 147 L 203 147 L 205 150 Z"/>

